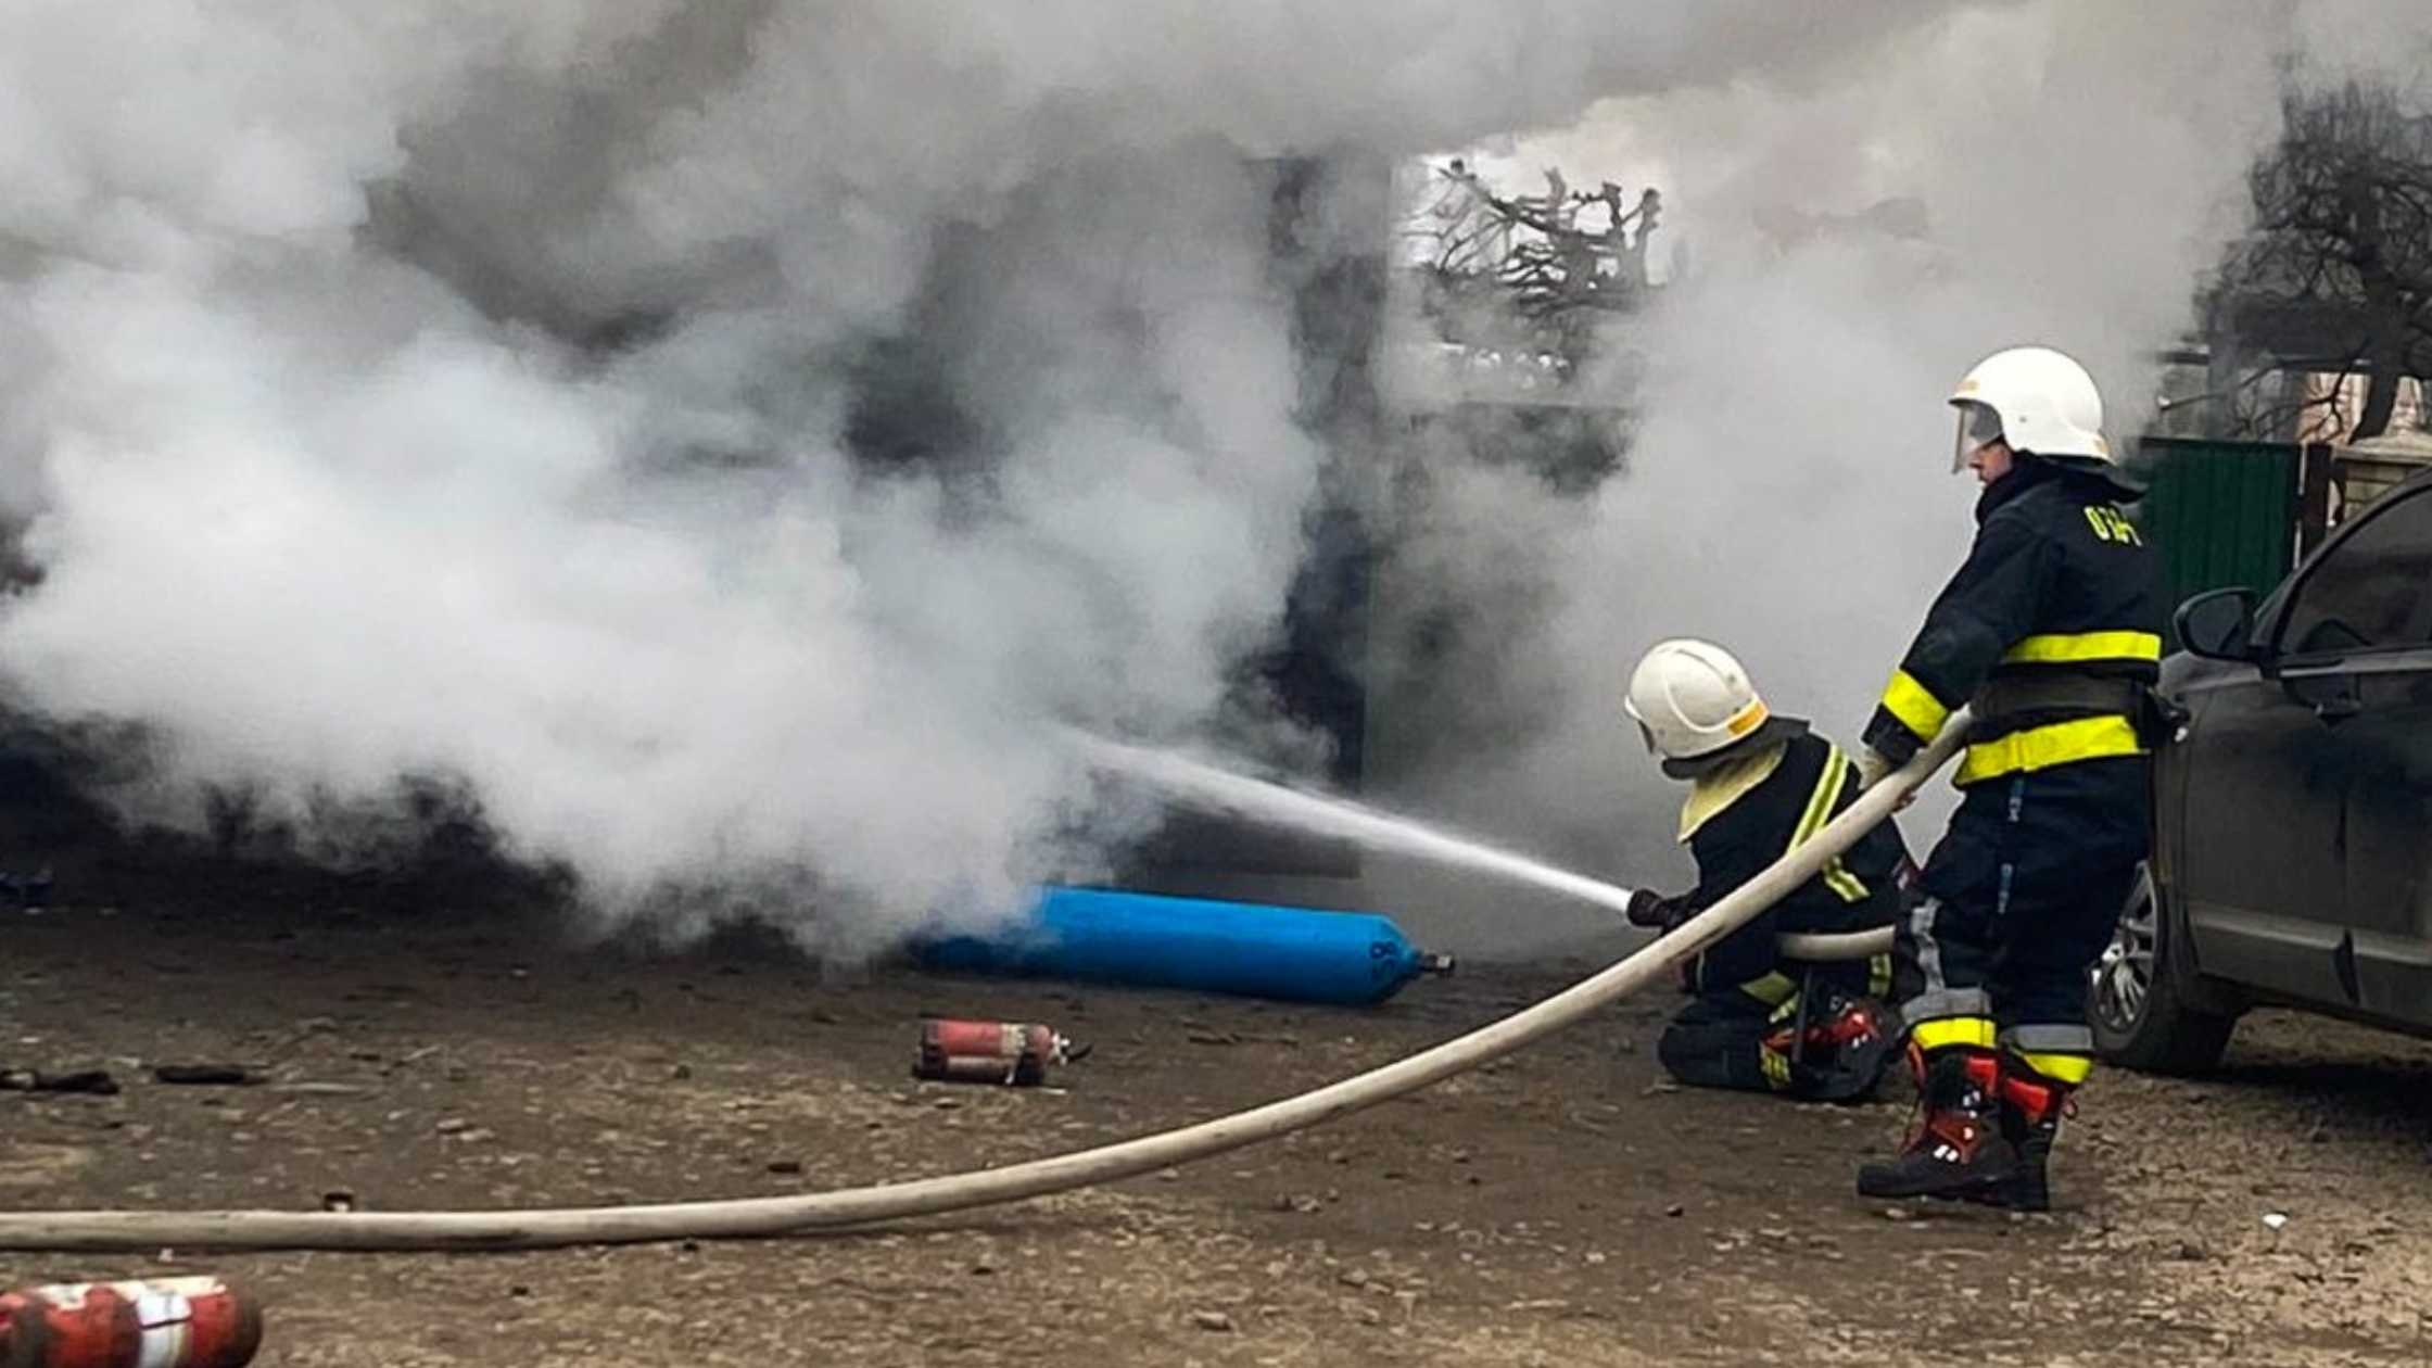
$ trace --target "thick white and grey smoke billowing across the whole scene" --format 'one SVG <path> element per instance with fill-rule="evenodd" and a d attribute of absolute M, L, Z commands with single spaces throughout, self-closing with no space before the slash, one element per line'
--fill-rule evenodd
<path fill-rule="evenodd" d="M 1002 908 L 1138 828 L 1058 725 L 1274 733 L 1238 665 L 1308 550 L 1328 358 L 1294 351 L 1262 163 L 1625 97 L 1688 214 L 1880 185 L 1936 224 L 1788 256 L 1700 231 L 1629 480 L 1428 516 L 1454 601 L 1481 528 L 1552 587 L 1447 733 L 1510 745 L 1437 798 L 1637 859 L 1663 823 L 1608 708 L 1637 645 L 1732 640 L 1846 733 L 1965 538 L 1933 480 L 1953 368 L 2040 329 L 2118 394 L 2289 32 L 2084 2 L 24 0 L 0 501 L 41 582 L 0 672 L 141 723 L 146 815 L 426 774 L 615 915 L 751 888 L 863 949 Z M 1372 209 L 1318 192 L 1296 236 L 1374 251 Z M 1530 725 L 1476 716 L 1498 696 Z"/>

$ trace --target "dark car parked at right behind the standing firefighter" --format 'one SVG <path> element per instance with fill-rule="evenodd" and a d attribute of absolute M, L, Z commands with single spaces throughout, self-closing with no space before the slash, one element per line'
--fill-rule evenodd
<path fill-rule="evenodd" d="M 2432 1035 L 2432 475 L 2383 494 L 2259 606 L 2179 606 L 2155 854 L 2094 969 L 2094 1039 L 2201 1071 L 2293 1005 Z"/>

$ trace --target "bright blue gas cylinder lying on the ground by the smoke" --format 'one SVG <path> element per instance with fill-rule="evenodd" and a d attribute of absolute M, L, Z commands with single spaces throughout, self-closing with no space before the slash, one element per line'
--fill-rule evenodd
<path fill-rule="evenodd" d="M 922 947 L 922 964 L 1041 974 L 1141 988 L 1197 988 L 1294 1003 L 1372 1005 L 1452 959 L 1411 947 L 1391 918 L 1216 903 L 1109 888 L 1043 888 L 1031 915 L 992 937 Z"/>

